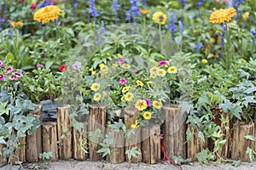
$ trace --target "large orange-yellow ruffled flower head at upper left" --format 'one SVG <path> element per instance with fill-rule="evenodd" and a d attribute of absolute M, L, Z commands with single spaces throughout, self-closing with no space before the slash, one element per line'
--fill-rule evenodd
<path fill-rule="evenodd" d="M 58 19 L 58 15 L 61 13 L 61 8 L 55 5 L 48 5 L 44 8 L 39 8 L 38 11 L 34 14 L 34 20 L 38 20 L 38 22 L 42 22 L 45 24 L 50 20 Z"/>

